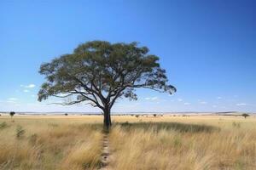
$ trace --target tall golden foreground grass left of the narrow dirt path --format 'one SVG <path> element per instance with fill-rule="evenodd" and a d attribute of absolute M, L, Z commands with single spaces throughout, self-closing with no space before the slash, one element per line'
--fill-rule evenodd
<path fill-rule="evenodd" d="M 0 169 L 96 169 L 101 128 L 47 121 L 0 122 Z"/>

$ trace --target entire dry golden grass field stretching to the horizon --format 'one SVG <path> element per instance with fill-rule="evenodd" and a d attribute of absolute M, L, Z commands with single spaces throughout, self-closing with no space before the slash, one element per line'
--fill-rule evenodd
<path fill-rule="evenodd" d="M 105 169 L 256 169 L 256 117 L 113 116 Z M 0 169 L 101 169 L 102 116 L 0 116 Z"/>

